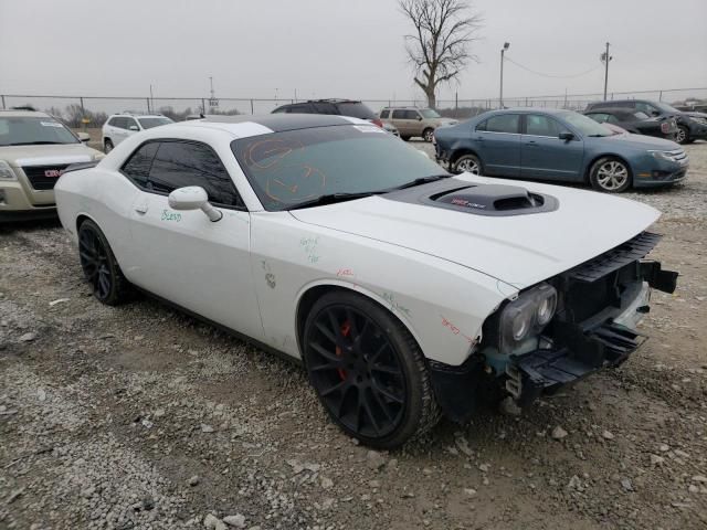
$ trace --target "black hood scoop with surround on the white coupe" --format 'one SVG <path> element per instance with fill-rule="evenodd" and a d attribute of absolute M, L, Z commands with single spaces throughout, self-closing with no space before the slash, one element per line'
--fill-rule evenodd
<path fill-rule="evenodd" d="M 506 184 L 467 186 L 434 193 L 429 200 L 441 208 L 477 215 L 521 215 L 557 210 L 555 198 Z"/>

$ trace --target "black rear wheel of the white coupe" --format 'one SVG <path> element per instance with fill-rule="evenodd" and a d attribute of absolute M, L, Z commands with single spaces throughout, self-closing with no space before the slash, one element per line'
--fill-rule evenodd
<path fill-rule="evenodd" d="M 84 221 L 78 229 L 78 258 L 98 301 L 117 306 L 129 298 L 130 284 L 123 276 L 108 240 L 91 220 Z"/>

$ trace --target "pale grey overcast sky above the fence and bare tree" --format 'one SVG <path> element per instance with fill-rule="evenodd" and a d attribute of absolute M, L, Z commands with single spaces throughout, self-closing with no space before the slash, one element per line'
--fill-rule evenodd
<path fill-rule="evenodd" d="M 610 91 L 707 86 L 707 0 L 476 0 L 471 63 L 440 97 L 497 97 L 499 50 Z M 421 97 L 395 0 L 0 0 L 0 94 Z M 600 93 L 601 67 L 505 66 L 505 95 Z"/>

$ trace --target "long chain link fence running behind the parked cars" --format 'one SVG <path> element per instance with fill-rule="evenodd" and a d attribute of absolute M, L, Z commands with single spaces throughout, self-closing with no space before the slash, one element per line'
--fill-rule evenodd
<path fill-rule="evenodd" d="M 614 92 L 608 99 L 652 99 L 683 108 L 705 108 L 707 87 L 656 91 Z M 590 102 L 602 100 L 603 94 L 563 94 L 555 96 L 506 97 L 504 107 L 540 107 L 582 110 Z M 304 99 L 299 99 L 304 100 Z M 64 120 L 71 127 L 101 127 L 112 114 L 158 113 L 181 121 L 200 114 L 240 115 L 270 114 L 281 105 L 296 103 L 297 99 L 231 98 L 221 97 L 97 97 L 97 96 L 35 96 L 0 94 L 0 108 L 32 107 L 44 110 Z M 363 99 L 373 112 L 386 106 L 425 107 L 420 99 Z M 487 99 L 439 99 L 437 110 L 443 116 L 469 118 L 486 110 L 502 107 L 497 98 Z"/>

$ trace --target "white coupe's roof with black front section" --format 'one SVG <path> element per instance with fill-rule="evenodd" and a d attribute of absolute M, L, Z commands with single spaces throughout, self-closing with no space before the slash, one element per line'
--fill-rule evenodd
<path fill-rule="evenodd" d="M 331 127 L 339 125 L 371 124 L 365 119 L 329 114 L 265 114 L 260 116 L 207 116 L 203 119 L 179 121 L 160 127 L 162 131 L 171 128 L 209 128 L 218 129 L 231 135 L 245 138 L 250 136 L 284 132 L 288 130 L 310 129 L 316 127 Z M 157 128 L 156 128 L 157 129 Z"/>

